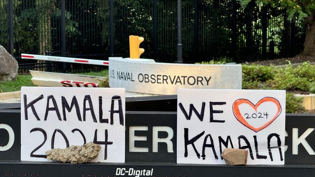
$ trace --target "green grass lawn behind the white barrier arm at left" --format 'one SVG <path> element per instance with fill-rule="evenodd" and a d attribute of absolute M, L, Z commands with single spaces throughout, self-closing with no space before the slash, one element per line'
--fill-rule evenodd
<path fill-rule="evenodd" d="M 89 73 L 77 73 L 77 74 L 104 77 L 108 75 L 108 70 L 104 70 L 101 72 L 89 72 Z M 35 86 L 31 82 L 31 74 L 18 75 L 12 81 L 0 82 L 0 92 L 18 91 L 21 89 L 22 86 Z"/>

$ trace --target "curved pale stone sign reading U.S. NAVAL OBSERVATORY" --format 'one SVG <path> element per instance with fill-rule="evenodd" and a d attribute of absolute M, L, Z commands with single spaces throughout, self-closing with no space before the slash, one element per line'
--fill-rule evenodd
<path fill-rule="evenodd" d="M 128 92 L 171 95 L 177 88 L 242 88 L 239 64 L 175 64 L 153 59 L 109 58 L 110 87 Z"/>

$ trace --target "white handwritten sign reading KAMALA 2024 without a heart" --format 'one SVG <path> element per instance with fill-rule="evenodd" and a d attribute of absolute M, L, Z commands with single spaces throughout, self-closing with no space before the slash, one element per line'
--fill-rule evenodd
<path fill-rule="evenodd" d="M 21 88 L 21 160 L 94 142 L 93 162 L 125 162 L 124 88 Z"/>

